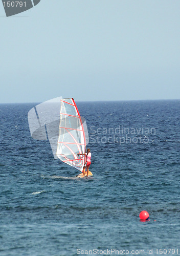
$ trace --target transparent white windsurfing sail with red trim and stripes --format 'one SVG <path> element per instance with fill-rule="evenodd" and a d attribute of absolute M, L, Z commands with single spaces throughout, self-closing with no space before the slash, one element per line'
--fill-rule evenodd
<path fill-rule="evenodd" d="M 61 99 L 57 157 L 82 172 L 85 156 L 84 127 L 74 99 Z"/>

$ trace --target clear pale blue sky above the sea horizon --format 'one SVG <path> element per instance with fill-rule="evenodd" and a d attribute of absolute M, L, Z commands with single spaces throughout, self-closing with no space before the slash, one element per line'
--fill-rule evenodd
<path fill-rule="evenodd" d="M 180 98 L 179 0 L 0 3 L 0 103 Z"/>

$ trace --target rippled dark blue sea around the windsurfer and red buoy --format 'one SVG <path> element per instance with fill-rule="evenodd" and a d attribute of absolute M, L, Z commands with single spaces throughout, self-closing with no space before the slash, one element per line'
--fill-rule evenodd
<path fill-rule="evenodd" d="M 180 254 L 180 100 L 76 103 L 83 179 L 31 137 L 38 103 L 0 104 L 0 255 Z"/>

